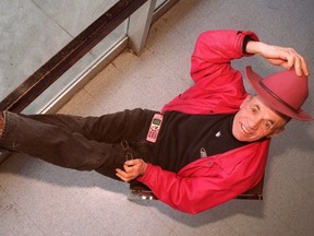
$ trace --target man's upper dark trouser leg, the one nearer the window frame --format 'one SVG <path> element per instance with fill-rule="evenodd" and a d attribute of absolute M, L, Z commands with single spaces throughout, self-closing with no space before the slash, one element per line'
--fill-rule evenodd
<path fill-rule="evenodd" d="M 121 140 L 142 138 L 147 120 L 150 122 L 156 111 L 136 108 L 100 117 L 77 117 L 69 115 L 20 115 L 40 122 L 56 125 L 71 132 L 78 132 L 88 140 L 116 143 Z M 145 130 L 146 132 L 146 130 Z M 146 134 L 146 133 L 144 133 Z"/>

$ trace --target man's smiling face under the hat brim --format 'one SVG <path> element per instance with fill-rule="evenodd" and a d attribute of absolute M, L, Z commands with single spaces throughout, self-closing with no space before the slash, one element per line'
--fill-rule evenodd
<path fill-rule="evenodd" d="M 281 132 L 286 123 L 258 96 L 249 96 L 235 114 L 232 133 L 239 141 L 252 142 Z"/>

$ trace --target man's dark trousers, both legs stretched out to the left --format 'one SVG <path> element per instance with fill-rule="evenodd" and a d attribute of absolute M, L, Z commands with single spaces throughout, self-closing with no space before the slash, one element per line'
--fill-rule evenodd
<path fill-rule="evenodd" d="M 114 178 L 114 168 L 125 162 L 121 140 L 143 140 L 153 115 L 142 109 L 86 118 L 4 113 L 0 145 L 55 165 L 96 169 Z"/>

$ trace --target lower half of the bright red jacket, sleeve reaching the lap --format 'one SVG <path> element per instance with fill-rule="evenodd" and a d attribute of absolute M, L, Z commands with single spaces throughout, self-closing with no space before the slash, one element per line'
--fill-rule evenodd
<path fill-rule="evenodd" d="M 173 209 L 200 213 L 243 193 L 261 180 L 269 141 L 251 145 L 222 154 L 225 157 L 216 158 L 213 165 L 208 165 L 213 157 L 201 158 L 178 174 L 148 164 L 146 173 L 137 180 Z"/>

